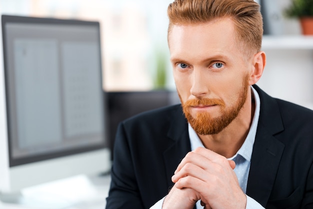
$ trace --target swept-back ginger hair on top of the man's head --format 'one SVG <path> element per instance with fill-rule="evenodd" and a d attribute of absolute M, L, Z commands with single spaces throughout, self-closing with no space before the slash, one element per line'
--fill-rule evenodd
<path fill-rule="evenodd" d="M 247 53 L 260 50 L 263 21 L 260 6 L 254 0 L 174 0 L 168 5 L 169 36 L 173 25 L 205 23 L 229 17 L 235 26 L 239 46 Z"/>

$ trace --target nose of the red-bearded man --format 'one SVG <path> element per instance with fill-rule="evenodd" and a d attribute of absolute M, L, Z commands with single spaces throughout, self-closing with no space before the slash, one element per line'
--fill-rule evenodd
<path fill-rule="evenodd" d="M 192 76 L 191 76 L 191 88 L 190 93 L 195 97 L 203 97 L 205 94 L 208 93 L 207 87 L 207 78 L 205 73 L 203 72 L 205 69 L 193 69 Z"/>

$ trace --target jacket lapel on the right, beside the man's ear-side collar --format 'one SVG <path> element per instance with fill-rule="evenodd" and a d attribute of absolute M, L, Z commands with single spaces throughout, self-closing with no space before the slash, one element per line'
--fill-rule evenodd
<path fill-rule="evenodd" d="M 284 144 L 273 135 L 283 131 L 276 100 L 257 86 L 260 96 L 260 116 L 251 156 L 246 194 L 265 206 L 278 170 Z"/>

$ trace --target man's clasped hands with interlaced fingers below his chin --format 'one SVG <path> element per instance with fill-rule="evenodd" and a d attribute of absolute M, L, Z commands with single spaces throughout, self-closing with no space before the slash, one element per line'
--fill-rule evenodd
<path fill-rule="evenodd" d="M 245 208 L 234 167 L 234 161 L 203 147 L 188 152 L 171 178 L 175 184 L 162 208 L 193 208 L 199 199 L 205 209 Z"/>

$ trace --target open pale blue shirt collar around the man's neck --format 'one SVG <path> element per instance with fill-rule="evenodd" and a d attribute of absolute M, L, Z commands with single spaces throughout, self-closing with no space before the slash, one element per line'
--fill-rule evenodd
<path fill-rule="evenodd" d="M 239 148 L 239 150 L 233 157 L 230 157 L 230 159 L 233 159 L 235 156 L 239 154 L 242 157 L 244 157 L 246 160 L 248 161 L 251 160 L 252 148 L 253 148 L 253 143 L 254 143 L 254 139 L 256 135 L 256 127 L 257 127 L 257 121 L 258 121 L 259 110 L 260 110 L 259 95 L 252 86 L 251 86 L 251 90 L 252 90 L 252 98 L 254 98 L 254 102 L 255 102 L 255 110 L 254 110 L 252 123 L 249 129 L 248 135 L 246 136 L 242 146 Z M 191 127 L 189 123 L 188 123 L 188 133 L 189 133 L 189 138 L 190 138 L 191 150 L 194 150 L 199 146 L 204 147 L 199 136 L 196 134 L 196 132 L 193 130 L 193 128 Z"/>

